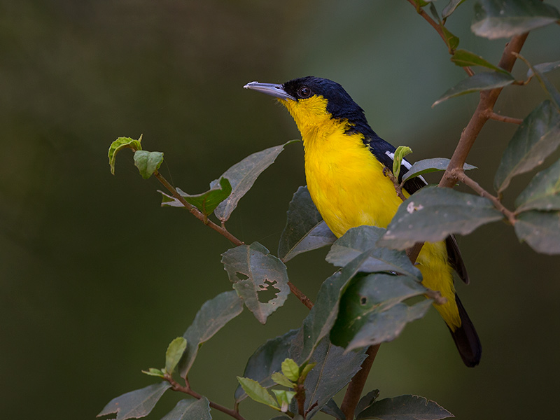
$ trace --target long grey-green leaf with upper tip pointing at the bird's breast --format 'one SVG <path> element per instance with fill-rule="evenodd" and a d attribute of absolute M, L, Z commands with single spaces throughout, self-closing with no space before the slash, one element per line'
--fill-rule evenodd
<path fill-rule="evenodd" d="M 276 160 L 278 155 L 284 150 L 284 147 L 295 141 L 299 140 L 291 140 L 280 146 L 274 146 L 264 151 L 248 155 L 244 160 L 237 162 L 230 167 L 230 169 L 225 171 L 221 178 L 227 178 L 230 181 L 232 193 L 216 207 L 214 210 L 216 217 L 222 222 L 227 221 L 237 207 L 237 203 L 241 200 L 241 197 L 251 189 L 258 176 L 274 163 L 274 160 Z M 216 183 L 218 183 L 217 180 L 212 181 L 210 187 L 214 188 Z"/>

